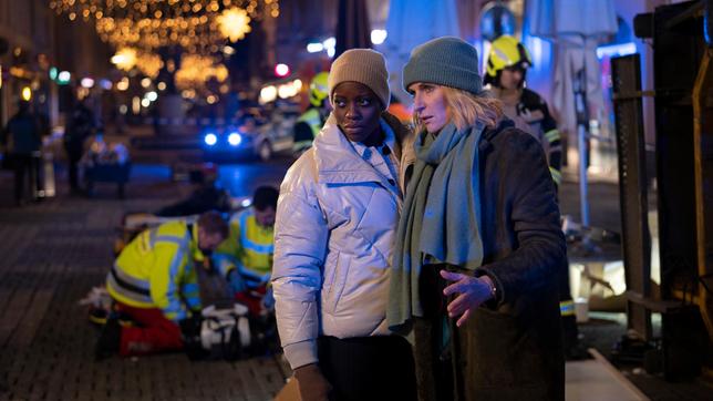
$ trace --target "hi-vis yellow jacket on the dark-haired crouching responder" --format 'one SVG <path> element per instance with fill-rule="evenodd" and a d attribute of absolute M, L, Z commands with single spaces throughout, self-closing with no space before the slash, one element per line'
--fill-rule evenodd
<path fill-rule="evenodd" d="M 270 279 L 275 230 L 258 225 L 252 208 L 245 209 L 230 218 L 230 236 L 216 249 L 218 269 L 225 277 L 238 269 L 247 286 L 255 288 Z"/>

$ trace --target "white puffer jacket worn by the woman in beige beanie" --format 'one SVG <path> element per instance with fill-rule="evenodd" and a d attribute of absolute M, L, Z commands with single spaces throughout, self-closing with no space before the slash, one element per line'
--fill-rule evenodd
<path fill-rule="evenodd" d="M 389 268 L 412 135 L 390 114 L 399 183 L 362 160 L 330 116 L 288 171 L 275 225 L 277 323 L 292 369 L 317 362 L 317 338 L 389 335 Z M 405 152 L 402 152 L 402 148 Z"/>

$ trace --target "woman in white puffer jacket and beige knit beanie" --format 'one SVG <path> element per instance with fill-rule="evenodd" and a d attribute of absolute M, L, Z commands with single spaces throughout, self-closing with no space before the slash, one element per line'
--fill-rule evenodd
<path fill-rule="evenodd" d="M 344 52 L 329 94 L 332 114 L 280 188 L 272 285 L 285 356 L 302 400 L 414 399 L 411 346 L 385 321 L 413 140 L 384 112 L 381 53 Z"/>

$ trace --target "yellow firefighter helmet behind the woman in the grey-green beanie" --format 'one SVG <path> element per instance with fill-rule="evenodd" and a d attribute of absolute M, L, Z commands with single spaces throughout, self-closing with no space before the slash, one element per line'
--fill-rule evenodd
<path fill-rule="evenodd" d="M 523 43 L 510 35 L 502 35 L 493 41 L 488 62 L 485 66 L 485 83 L 499 86 L 500 71 L 517 66 L 527 71 L 533 65 L 533 59 Z M 523 76 L 525 81 L 525 76 Z"/>

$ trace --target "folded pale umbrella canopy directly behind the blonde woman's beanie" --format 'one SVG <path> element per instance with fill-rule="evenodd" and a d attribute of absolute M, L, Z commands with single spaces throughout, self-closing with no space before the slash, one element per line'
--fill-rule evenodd
<path fill-rule="evenodd" d="M 391 0 L 388 37 L 380 49 L 386 55 L 391 92 L 404 104 L 411 96 L 402 89 L 401 72 L 416 45 L 443 35 L 459 35 L 454 0 Z"/>

